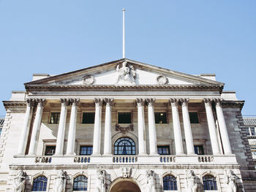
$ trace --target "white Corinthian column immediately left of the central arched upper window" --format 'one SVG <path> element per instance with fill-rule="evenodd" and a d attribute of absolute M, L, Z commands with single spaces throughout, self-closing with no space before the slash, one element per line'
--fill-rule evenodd
<path fill-rule="evenodd" d="M 111 107 L 113 99 L 104 99 L 104 101 L 106 104 L 104 155 L 111 155 Z"/>

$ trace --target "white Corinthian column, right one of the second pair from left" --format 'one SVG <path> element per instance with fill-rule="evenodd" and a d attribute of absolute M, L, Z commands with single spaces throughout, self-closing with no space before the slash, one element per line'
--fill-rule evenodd
<path fill-rule="evenodd" d="M 75 129 L 77 125 L 79 99 L 69 99 L 71 107 L 69 137 L 67 138 L 67 155 L 75 155 Z"/>

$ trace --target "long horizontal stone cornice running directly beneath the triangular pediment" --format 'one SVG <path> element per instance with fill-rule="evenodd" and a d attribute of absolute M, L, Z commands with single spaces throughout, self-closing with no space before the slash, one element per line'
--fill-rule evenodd
<path fill-rule="evenodd" d="M 26 91 L 219 91 L 222 85 L 25 85 Z"/>

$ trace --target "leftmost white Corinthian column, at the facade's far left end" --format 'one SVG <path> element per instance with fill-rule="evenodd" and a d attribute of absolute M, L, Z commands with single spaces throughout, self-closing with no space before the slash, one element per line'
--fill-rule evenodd
<path fill-rule="evenodd" d="M 20 142 L 17 155 L 25 155 L 26 143 L 28 142 L 29 127 L 31 123 L 32 108 L 34 107 L 34 99 L 26 99 L 26 114 L 20 134 Z"/>

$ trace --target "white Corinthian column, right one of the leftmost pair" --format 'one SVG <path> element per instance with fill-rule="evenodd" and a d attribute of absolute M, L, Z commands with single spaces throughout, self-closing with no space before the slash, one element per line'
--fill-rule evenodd
<path fill-rule="evenodd" d="M 41 120 L 42 120 L 42 110 L 46 105 L 45 99 L 36 99 L 36 101 L 37 101 L 37 113 L 36 113 L 36 117 L 34 118 L 31 141 L 29 146 L 29 155 L 36 155 L 37 143 L 38 143 L 37 139 L 39 136 L 39 130 L 40 130 Z"/>

